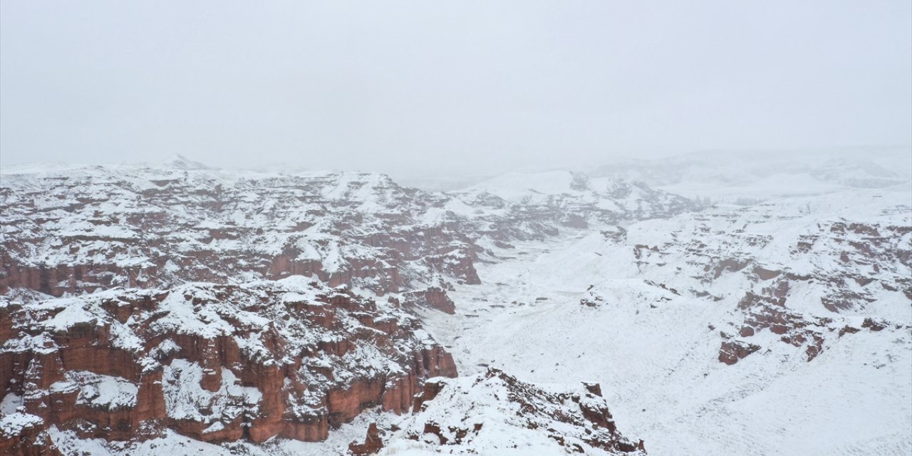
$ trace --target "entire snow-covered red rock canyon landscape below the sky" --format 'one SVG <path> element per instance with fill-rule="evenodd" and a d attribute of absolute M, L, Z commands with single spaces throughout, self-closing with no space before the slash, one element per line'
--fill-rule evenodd
<path fill-rule="evenodd" d="M 0 452 L 908 455 L 912 152 L 799 155 L 5 167 Z"/>

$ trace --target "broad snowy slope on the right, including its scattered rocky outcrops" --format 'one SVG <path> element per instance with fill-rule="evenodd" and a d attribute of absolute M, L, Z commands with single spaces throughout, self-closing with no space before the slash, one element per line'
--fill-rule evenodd
<path fill-rule="evenodd" d="M 600 382 L 651 454 L 908 454 L 910 195 L 850 189 L 516 243 L 479 264 L 483 285 L 451 293 L 455 316 L 425 321 L 463 374 Z"/>

